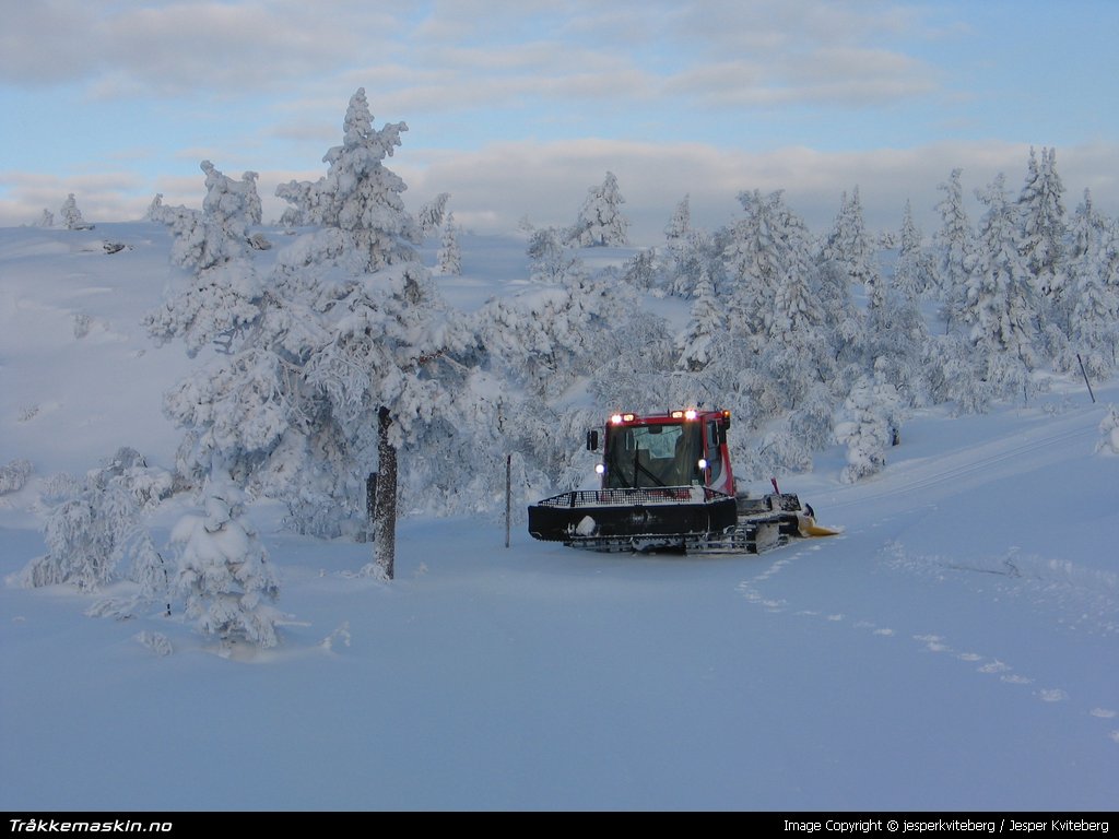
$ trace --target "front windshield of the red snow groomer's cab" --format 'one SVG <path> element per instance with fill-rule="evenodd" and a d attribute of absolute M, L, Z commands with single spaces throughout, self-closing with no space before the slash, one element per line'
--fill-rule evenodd
<path fill-rule="evenodd" d="M 700 480 L 702 425 L 611 425 L 605 487 L 686 487 Z"/>

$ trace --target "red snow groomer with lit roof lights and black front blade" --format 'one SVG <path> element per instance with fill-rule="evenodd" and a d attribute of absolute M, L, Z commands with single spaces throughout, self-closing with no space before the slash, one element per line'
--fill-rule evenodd
<path fill-rule="evenodd" d="M 598 490 L 573 490 L 528 508 L 536 539 L 571 547 L 637 553 L 751 553 L 794 537 L 838 532 L 816 525 L 811 508 L 777 491 L 735 491 L 726 432 L 730 411 L 614 414 L 587 432 L 602 444 Z"/>

